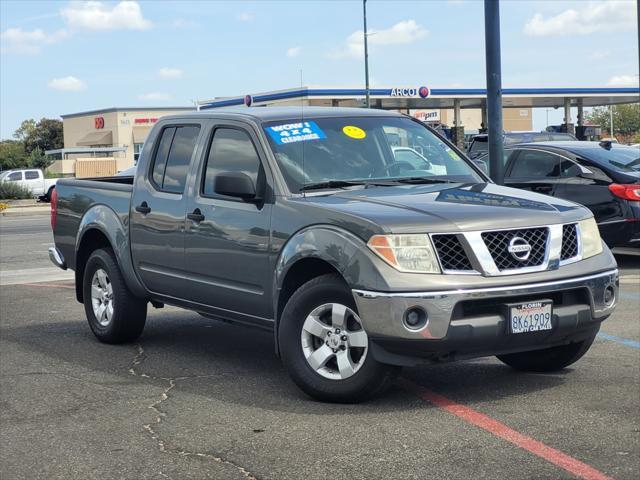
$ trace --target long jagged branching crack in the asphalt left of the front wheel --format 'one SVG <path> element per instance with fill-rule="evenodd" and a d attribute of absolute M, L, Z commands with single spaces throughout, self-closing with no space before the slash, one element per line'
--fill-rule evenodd
<path fill-rule="evenodd" d="M 176 387 L 177 382 L 181 380 L 191 380 L 195 378 L 211 378 L 211 377 L 214 377 L 215 375 L 189 375 L 189 376 L 183 376 L 183 377 L 167 378 L 167 377 L 154 377 L 146 373 L 141 373 L 137 371 L 137 367 L 144 362 L 146 358 L 145 351 L 144 351 L 144 348 L 142 348 L 142 345 L 139 343 L 136 345 L 136 350 L 137 350 L 136 355 L 133 357 L 133 360 L 131 361 L 131 365 L 129 367 L 129 374 L 133 375 L 134 377 L 148 378 L 151 380 L 162 380 L 167 383 L 167 387 L 160 394 L 160 398 L 147 407 L 155 412 L 156 417 L 154 421 L 152 423 L 143 425 L 144 430 L 149 434 L 149 436 L 153 439 L 153 441 L 156 442 L 158 449 L 163 453 L 173 453 L 174 455 L 180 455 L 182 457 L 196 457 L 196 458 L 206 458 L 209 460 L 213 460 L 216 463 L 234 467 L 247 480 L 258 480 L 258 477 L 256 477 L 254 474 L 252 474 L 249 470 L 247 470 L 243 466 L 233 463 L 232 461 L 219 457 L 217 455 L 213 455 L 211 453 L 203 453 L 203 452 L 190 452 L 188 450 L 184 450 L 180 448 L 170 448 L 167 446 L 165 440 L 163 440 L 160 437 L 156 428 L 154 428 L 160 425 L 167 418 L 167 413 L 160 408 L 160 405 L 163 402 L 166 402 L 167 400 L 169 400 L 170 398 L 169 392 L 171 392 L 171 390 L 173 390 Z M 164 477 L 171 478 L 164 472 L 159 472 L 159 473 Z"/>

